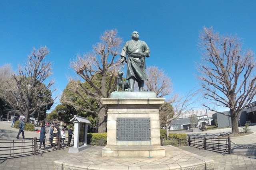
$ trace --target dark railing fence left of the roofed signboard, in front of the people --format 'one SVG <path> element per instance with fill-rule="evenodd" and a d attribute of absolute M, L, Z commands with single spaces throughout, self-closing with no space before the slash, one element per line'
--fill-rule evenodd
<path fill-rule="evenodd" d="M 72 137 L 70 144 L 68 143 L 68 137 L 58 138 L 53 145 L 51 145 L 50 139 L 46 139 L 45 148 L 42 144 L 42 149 L 39 149 L 40 141 L 36 137 L 34 139 L 0 139 L 0 160 L 64 149 L 73 146 L 73 138 L 74 137 Z"/>

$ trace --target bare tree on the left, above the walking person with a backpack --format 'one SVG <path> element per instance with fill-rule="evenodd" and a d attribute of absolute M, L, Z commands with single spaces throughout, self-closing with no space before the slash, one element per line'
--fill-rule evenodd
<path fill-rule="evenodd" d="M 33 48 L 28 56 L 25 66 L 18 67 L 18 74 L 14 74 L 5 86 L 4 99 L 29 121 L 35 111 L 52 104 L 51 91 L 53 80 L 46 79 L 52 74 L 51 63 L 44 61 L 49 50 L 46 47 Z"/>

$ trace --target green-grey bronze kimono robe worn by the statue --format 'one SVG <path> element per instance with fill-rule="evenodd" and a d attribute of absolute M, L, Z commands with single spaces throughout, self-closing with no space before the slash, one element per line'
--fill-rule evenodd
<path fill-rule="evenodd" d="M 132 76 L 136 78 L 137 82 L 142 80 L 148 80 L 145 68 L 145 57 L 141 57 L 143 53 L 150 55 L 150 49 L 144 41 L 127 41 L 122 48 L 121 56 L 126 58 L 127 63 L 127 74 L 126 80 L 129 80 Z"/>

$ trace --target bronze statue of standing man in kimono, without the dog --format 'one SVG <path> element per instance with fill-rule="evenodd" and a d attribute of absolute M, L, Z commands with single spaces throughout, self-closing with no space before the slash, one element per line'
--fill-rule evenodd
<path fill-rule="evenodd" d="M 126 91 L 133 92 L 135 81 L 138 82 L 139 91 L 143 92 L 144 80 L 148 80 L 146 74 L 145 57 L 149 57 L 150 49 L 144 41 L 140 41 L 137 31 L 132 32 L 132 40 L 127 41 L 121 52 L 121 60 L 127 63 L 126 80 L 128 80 L 130 88 Z M 127 58 L 126 58 L 127 55 Z"/>

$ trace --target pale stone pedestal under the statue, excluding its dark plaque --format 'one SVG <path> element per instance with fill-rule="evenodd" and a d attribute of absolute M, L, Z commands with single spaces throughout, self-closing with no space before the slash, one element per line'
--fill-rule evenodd
<path fill-rule="evenodd" d="M 107 145 L 103 157 L 163 157 L 160 145 L 159 107 L 164 98 L 156 98 L 154 92 L 113 92 L 103 98 L 108 106 Z M 117 139 L 117 118 L 150 118 L 150 139 L 146 141 L 120 141 Z"/>

